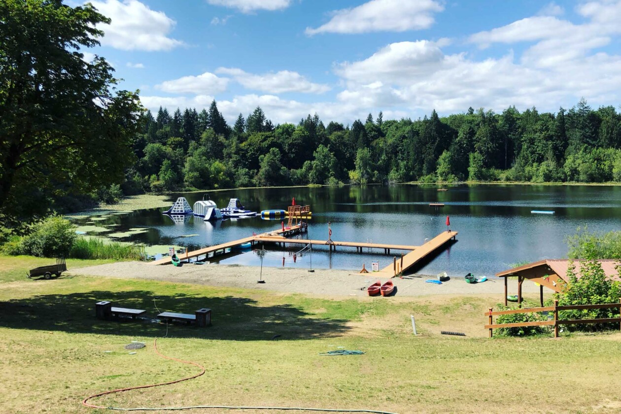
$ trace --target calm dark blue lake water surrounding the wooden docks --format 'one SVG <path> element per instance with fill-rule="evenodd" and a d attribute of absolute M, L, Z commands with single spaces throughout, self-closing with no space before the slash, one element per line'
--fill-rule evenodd
<path fill-rule="evenodd" d="M 327 240 L 328 222 L 332 223 L 332 240 L 373 241 L 402 245 L 422 245 L 446 230 L 450 216 L 451 230 L 459 232 L 458 242 L 442 251 L 424 267 L 425 274 L 446 271 L 449 276 L 464 276 L 468 272 L 491 276 L 522 261 L 544 258 L 564 258 L 567 246 L 564 238 L 576 228 L 589 230 L 619 230 L 621 225 L 621 186 L 519 186 L 519 185 L 459 185 L 448 191 L 437 186 L 343 186 L 299 187 L 278 189 L 246 189 L 209 193 L 218 207 L 225 207 L 231 197 L 237 197 L 248 209 L 286 209 L 291 198 L 296 204 L 311 205 L 312 220 L 308 238 Z M 190 205 L 202 199 L 202 193 L 176 194 L 184 196 Z M 444 203 L 430 207 L 429 203 Z M 162 215 L 164 209 L 139 210 L 128 215 L 109 218 L 97 225 L 117 225 L 115 232 L 129 228 L 149 228 L 147 233 L 122 240 L 139 241 L 150 245 L 181 245 L 204 247 L 275 230 L 280 220 L 261 220 L 260 217 L 203 223 L 189 218 L 174 223 Z M 531 214 L 531 210 L 553 210 L 553 215 Z M 196 235 L 182 237 L 184 235 Z M 376 253 L 356 253 L 340 249 L 329 254 L 323 246 L 313 246 L 313 253 L 298 257 L 299 250 L 280 250 L 267 246 L 263 266 L 284 266 L 332 269 L 361 269 L 363 263 L 379 261 L 380 268 L 392 263 L 394 251 L 386 256 Z M 260 265 L 253 251 L 232 253 L 219 263 Z"/>

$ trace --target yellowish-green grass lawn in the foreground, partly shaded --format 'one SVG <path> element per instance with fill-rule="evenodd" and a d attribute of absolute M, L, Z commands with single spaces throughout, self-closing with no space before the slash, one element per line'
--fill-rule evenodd
<path fill-rule="evenodd" d="M 485 338 L 476 295 L 322 299 L 172 282 L 71 276 L 27 280 L 49 260 L 0 256 L 0 412 L 97 413 L 104 390 L 194 374 L 179 384 L 101 397 L 115 407 L 270 405 L 404 413 L 619 413 L 621 334 Z M 68 268 L 96 264 L 68 261 Z M 528 299 L 528 298 L 527 298 Z M 535 299 L 535 297 L 533 297 Z M 156 315 L 212 308 L 213 326 L 105 322 L 97 300 Z M 410 314 L 419 336 L 412 335 Z M 462 331 L 462 336 L 440 335 Z M 274 335 L 281 335 L 271 340 Z M 146 348 L 129 354 L 130 341 Z M 319 356 L 337 349 L 361 356 Z M 202 410 L 224 413 L 227 410 Z M 254 413 L 246 410 L 245 413 Z"/>

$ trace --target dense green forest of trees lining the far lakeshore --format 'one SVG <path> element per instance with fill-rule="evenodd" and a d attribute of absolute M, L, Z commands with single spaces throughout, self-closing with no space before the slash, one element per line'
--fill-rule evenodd
<path fill-rule="evenodd" d="M 133 191 L 407 181 L 621 181 L 621 114 L 582 99 L 558 113 L 470 108 L 351 125 L 308 115 L 274 126 L 257 107 L 230 127 L 209 110 L 143 115 Z"/>

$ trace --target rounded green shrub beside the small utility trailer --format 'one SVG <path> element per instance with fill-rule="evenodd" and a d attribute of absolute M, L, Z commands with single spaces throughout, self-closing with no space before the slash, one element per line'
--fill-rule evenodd
<path fill-rule="evenodd" d="M 22 238 L 21 254 L 57 258 L 66 257 L 76 240 L 75 227 L 63 217 L 52 215 L 28 226 Z"/>

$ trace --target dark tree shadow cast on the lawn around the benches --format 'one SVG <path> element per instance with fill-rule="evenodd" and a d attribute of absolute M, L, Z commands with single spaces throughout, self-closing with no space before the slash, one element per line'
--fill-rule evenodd
<path fill-rule="evenodd" d="M 147 312 L 136 320 L 98 320 L 95 317 L 95 304 L 100 300 L 109 300 L 112 306 L 143 309 Z M 256 300 L 243 297 L 204 297 L 183 293 L 156 295 L 148 290 L 93 290 L 0 302 L 0 326 L 155 338 L 165 335 L 167 328 L 165 322 L 157 322 L 158 313 L 169 311 L 194 314 L 195 310 L 203 307 L 211 308 L 212 326 L 198 328 L 194 324 L 168 323 L 168 336 L 258 341 L 280 335 L 279 340 L 307 340 L 340 336 L 350 329 L 345 325 L 347 320 L 320 319 L 292 305 L 262 307 Z"/>

